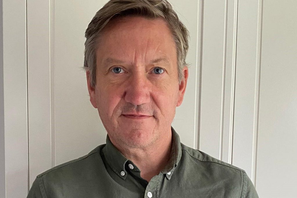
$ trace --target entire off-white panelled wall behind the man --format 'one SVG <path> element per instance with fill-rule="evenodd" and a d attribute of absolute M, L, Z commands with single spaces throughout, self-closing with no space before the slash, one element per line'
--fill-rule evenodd
<path fill-rule="evenodd" d="M 0 168 L 7 197 L 25 197 L 36 175 L 105 142 L 80 67 L 84 31 L 107 0 L 3 1 Z M 170 2 L 191 36 L 188 87 L 173 121 L 181 141 L 246 170 L 260 197 L 292 197 L 297 1 Z"/>

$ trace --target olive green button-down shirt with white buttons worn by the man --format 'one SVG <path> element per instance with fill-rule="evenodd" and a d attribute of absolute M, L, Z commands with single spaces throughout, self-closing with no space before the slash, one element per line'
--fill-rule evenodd
<path fill-rule="evenodd" d="M 258 197 L 246 172 L 181 144 L 172 128 L 167 166 L 149 182 L 110 142 L 40 174 L 28 197 Z"/>

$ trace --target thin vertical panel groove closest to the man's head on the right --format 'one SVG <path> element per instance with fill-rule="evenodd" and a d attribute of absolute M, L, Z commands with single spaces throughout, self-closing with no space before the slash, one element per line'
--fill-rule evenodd
<path fill-rule="evenodd" d="M 203 55 L 203 19 L 204 19 L 204 0 L 201 2 L 201 37 L 200 37 L 200 79 L 199 79 L 199 116 L 198 116 L 198 146 L 200 149 L 200 118 L 201 118 L 201 85 L 202 85 L 202 55 Z M 198 38 L 197 38 L 198 41 Z M 198 47 L 198 45 L 197 45 Z"/>

